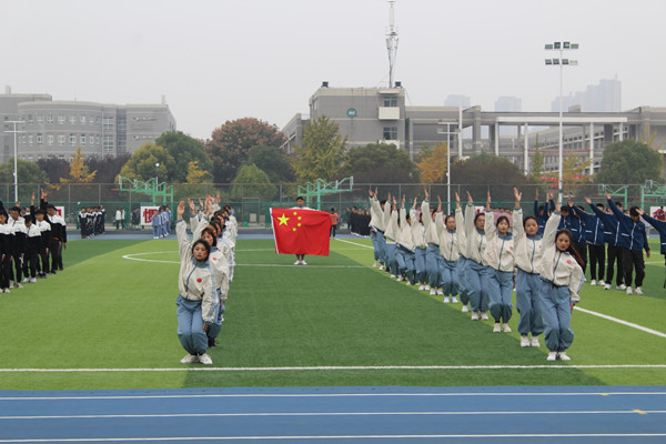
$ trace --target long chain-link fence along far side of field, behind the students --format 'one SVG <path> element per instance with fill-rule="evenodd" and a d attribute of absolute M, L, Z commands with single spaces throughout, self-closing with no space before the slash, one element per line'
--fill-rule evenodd
<path fill-rule="evenodd" d="M 173 201 L 164 201 L 162 198 L 153 200 L 152 195 L 133 191 L 121 191 L 117 184 L 19 184 L 18 202 L 21 206 L 29 206 L 32 194 L 36 196 L 36 205 L 39 204 L 40 190 L 48 190 L 48 200 L 64 208 L 65 221 L 75 224 L 77 214 L 83 206 L 103 205 L 107 210 L 107 223 L 111 224 L 115 211 L 124 210 L 123 228 L 142 229 L 135 218 L 141 206 L 168 204 L 173 206 L 186 198 L 198 199 L 206 194 L 220 194 L 222 203 L 230 203 L 235 211 L 236 219 L 242 228 L 270 229 L 269 211 L 272 206 L 285 208 L 295 204 L 297 184 L 173 184 Z M 462 202 L 467 201 L 467 192 L 472 195 L 476 205 L 484 205 L 487 193 L 491 193 L 492 204 L 495 208 L 511 209 L 514 205 L 514 185 L 511 184 L 415 184 L 415 183 L 356 183 L 352 191 L 340 193 L 306 196 L 306 205 L 314 209 L 329 211 L 335 209 L 341 215 L 344 225 L 345 214 L 353 206 L 369 209 L 369 190 L 379 192 L 380 199 L 386 199 L 389 194 L 395 196 L 400 202 L 405 196 L 405 205 L 410 206 L 414 198 L 421 201 L 424 198 L 424 189 L 427 189 L 431 201 L 442 200 L 444 211 L 455 209 L 455 193 L 461 196 Z M 545 203 L 547 192 L 557 193 L 553 184 L 524 184 L 518 186 L 523 193 L 522 206 L 526 213 L 532 213 L 536 193 L 538 202 Z M 572 200 L 578 204 L 585 204 L 585 198 L 589 196 L 594 202 L 604 202 L 605 193 L 609 192 L 613 199 L 627 205 L 638 205 L 648 210 L 649 206 L 666 205 L 666 188 L 653 184 L 572 184 L 565 186 L 565 193 L 571 193 Z M 13 206 L 13 184 L 0 184 L 0 196 L 4 206 Z M 132 216 L 134 215 L 134 218 Z M 145 228 L 145 226 L 144 226 Z"/>

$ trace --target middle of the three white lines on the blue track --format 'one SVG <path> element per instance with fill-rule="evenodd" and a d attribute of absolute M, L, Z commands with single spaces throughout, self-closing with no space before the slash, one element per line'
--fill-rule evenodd
<path fill-rule="evenodd" d="M 144 413 L 144 414 L 100 414 L 100 415 L 34 415 L 34 416 L 0 416 L 8 420 L 98 420 L 98 418 L 163 418 L 163 417 L 236 417 L 236 416 L 478 416 L 478 415 L 645 415 L 665 414 L 664 410 L 597 410 L 597 411 L 486 411 L 486 412 L 263 412 L 263 413 Z"/>

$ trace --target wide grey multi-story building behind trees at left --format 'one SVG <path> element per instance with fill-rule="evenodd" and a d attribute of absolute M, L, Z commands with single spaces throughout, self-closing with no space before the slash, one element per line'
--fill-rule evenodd
<path fill-rule="evenodd" d="M 131 154 L 145 142 L 154 142 L 163 132 L 175 131 L 169 105 L 102 104 L 53 101 L 49 94 L 1 94 L 0 162 L 14 153 L 18 159 L 43 158 L 71 160 L 78 148 L 85 157 Z M 20 121 L 17 134 L 12 121 Z"/>

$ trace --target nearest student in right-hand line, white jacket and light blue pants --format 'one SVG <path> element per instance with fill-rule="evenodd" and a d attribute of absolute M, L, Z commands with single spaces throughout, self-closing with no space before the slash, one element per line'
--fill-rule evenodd
<path fill-rule="evenodd" d="M 555 209 L 559 209 L 559 202 L 556 202 Z M 566 350 L 574 341 L 572 313 L 574 304 L 581 300 L 578 292 L 585 282 L 579 265 L 583 260 L 572 246 L 572 233 L 566 229 L 557 231 L 559 220 L 558 211 L 551 214 L 543 239 L 541 303 L 549 350 L 547 361 L 571 361 Z"/>

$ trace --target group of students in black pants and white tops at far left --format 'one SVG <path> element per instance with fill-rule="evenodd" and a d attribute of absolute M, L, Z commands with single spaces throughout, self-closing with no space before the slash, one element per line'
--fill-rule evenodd
<path fill-rule="evenodd" d="M 36 209 L 32 194 L 29 213 L 22 213 L 18 204 L 8 211 L 0 201 L 0 293 L 63 270 L 65 223 L 47 195 L 42 191 L 40 208 Z"/>

